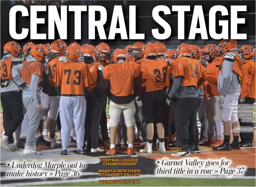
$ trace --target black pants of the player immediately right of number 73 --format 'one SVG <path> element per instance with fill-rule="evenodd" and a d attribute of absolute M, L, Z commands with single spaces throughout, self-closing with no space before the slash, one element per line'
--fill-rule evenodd
<path fill-rule="evenodd" d="M 95 90 L 86 96 L 85 135 L 87 150 L 98 148 L 100 117 L 103 108 L 103 98 Z"/>

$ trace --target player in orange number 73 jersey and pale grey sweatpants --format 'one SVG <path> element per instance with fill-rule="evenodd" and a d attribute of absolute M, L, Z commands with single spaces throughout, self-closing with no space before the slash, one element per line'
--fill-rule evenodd
<path fill-rule="evenodd" d="M 85 155 L 84 121 L 86 117 L 86 99 L 84 96 L 92 84 L 88 66 L 79 62 L 80 49 L 75 45 L 67 47 L 66 58 L 57 63 L 54 86 L 60 97 L 61 155 L 67 155 L 72 124 L 76 128 L 77 154 Z"/>

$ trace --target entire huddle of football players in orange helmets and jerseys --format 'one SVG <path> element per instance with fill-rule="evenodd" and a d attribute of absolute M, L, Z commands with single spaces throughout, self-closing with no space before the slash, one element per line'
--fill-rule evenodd
<path fill-rule="evenodd" d="M 240 126 L 253 128 L 253 123 L 239 122 L 232 111 L 238 103 L 255 103 L 254 57 L 252 46 L 237 49 L 236 40 L 230 39 L 203 49 L 182 43 L 176 51 L 166 50 L 162 42 L 136 42 L 111 55 L 106 43 L 67 46 L 54 40 L 26 43 L 21 50 L 11 41 L 4 45 L 1 59 L 1 146 L 38 155 L 37 145 L 49 145 L 62 147 L 60 154 L 67 155 L 74 132 L 77 154 L 103 152 L 98 146 L 101 136 L 106 154 L 114 156 L 121 149 L 122 131 L 128 156 L 137 154 L 134 141 L 143 142 L 141 153 L 181 147 L 175 157 L 200 153 L 200 146 L 252 147 L 253 132 L 233 131 L 232 143 L 230 135 Z M 61 145 L 56 143 L 56 124 Z M 21 128 L 26 129 L 25 146 Z M 50 141 L 44 139 L 48 129 Z"/>

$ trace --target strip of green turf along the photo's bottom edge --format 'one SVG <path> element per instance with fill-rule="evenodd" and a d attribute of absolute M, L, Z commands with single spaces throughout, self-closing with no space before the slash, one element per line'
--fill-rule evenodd
<path fill-rule="evenodd" d="M 94 181 L 51 184 L 51 186 L 255 186 L 255 179 L 134 178 L 131 180 L 139 180 L 139 184 L 100 184 L 99 181 Z M 49 184 L 40 186 L 49 186 Z"/>

